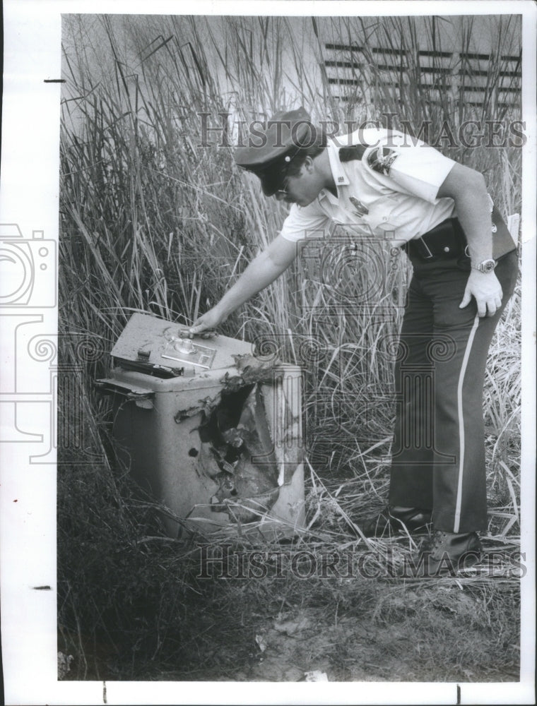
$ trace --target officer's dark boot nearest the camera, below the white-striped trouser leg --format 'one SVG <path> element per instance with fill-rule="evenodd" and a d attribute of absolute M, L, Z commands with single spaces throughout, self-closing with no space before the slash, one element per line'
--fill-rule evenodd
<path fill-rule="evenodd" d="M 414 561 L 404 569 L 404 575 L 435 578 L 455 575 L 481 559 L 481 542 L 476 532 L 454 534 L 435 530 L 429 542 L 425 542 Z"/>

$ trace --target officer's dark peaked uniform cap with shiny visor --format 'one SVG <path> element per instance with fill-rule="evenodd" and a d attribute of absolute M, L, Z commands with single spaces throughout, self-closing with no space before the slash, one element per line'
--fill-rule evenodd
<path fill-rule="evenodd" d="M 265 196 L 273 196 L 283 185 L 293 158 L 315 139 L 315 128 L 304 108 L 279 112 L 264 127 L 256 126 L 248 145 L 236 150 L 235 163 L 256 174 Z"/>

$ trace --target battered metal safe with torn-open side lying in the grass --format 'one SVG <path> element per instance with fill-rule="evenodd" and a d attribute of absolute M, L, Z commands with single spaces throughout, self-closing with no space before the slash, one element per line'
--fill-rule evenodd
<path fill-rule="evenodd" d="M 135 313 L 112 349 L 114 439 L 162 513 L 184 530 L 291 536 L 305 522 L 302 370 L 252 345 Z M 239 530 L 240 527 L 240 530 Z"/>

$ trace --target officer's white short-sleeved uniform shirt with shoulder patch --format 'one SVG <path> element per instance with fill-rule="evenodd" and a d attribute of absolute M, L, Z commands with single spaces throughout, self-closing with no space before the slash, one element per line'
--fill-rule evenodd
<path fill-rule="evenodd" d="M 341 148 L 360 143 L 370 145 L 361 159 L 341 161 Z M 323 189 L 309 205 L 293 204 L 281 229 L 286 240 L 326 237 L 335 223 L 400 246 L 456 215 L 452 198 L 436 198 L 455 162 L 421 140 L 366 128 L 326 149 L 338 196 Z"/>

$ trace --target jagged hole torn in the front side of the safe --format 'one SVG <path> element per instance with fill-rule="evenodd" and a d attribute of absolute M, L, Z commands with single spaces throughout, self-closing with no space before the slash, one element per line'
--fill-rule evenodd
<path fill-rule="evenodd" d="M 223 390 L 203 417 L 198 469 L 218 484 L 211 509 L 228 513 L 231 522 L 259 520 L 280 491 L 261 385 Z"/>

